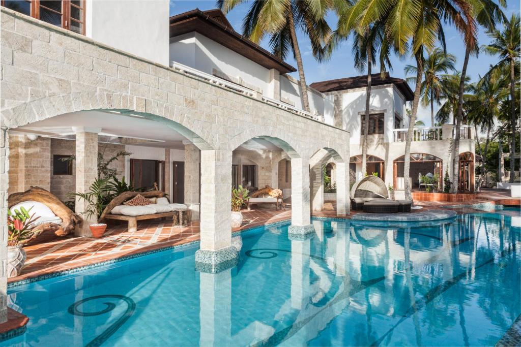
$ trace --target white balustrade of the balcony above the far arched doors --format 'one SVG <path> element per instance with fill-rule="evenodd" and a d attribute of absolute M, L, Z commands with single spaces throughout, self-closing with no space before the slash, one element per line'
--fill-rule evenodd
<path fill-rule="evenodd" d="M 407 140 L 407 128 L 393 130 L 393 142 L 405 142 Z M 455 127 L 452 124 L 442 126 L 426 126 L 413 128 L 413 141 L 436 141 L 455 139 Z M 470 125 L 462 125 L 460 139 L 474 139 L 474 128 Z"/>

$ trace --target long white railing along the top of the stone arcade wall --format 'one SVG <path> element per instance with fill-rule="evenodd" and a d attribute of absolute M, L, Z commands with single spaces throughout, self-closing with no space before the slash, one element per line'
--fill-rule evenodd
<path fill-rule="evenodd" d="M 253 97 L 253 98 L 262 100 L 264 102 L 267 102 L 268 104 L 275 105 L 279 108 L 282 108 L 282 109 L 290 111 L 292 113 L 301 115 L 303 117 L 310 118 L 310 119 L 313 119 L 313 120 L 316 120 L 319 122 L 324 122 L 323 115 L 309 113 L 304 110 L 298 109 L 292 105 L 286 104 L 282 101 L 268 98 L 257 91 L 253 91 L 252 89 L 245 88 L 239 84 L 236 84 L 236 83 L 218 78 L 214 75 L 210 75 L 209 73 L 191 68 L 189 66 L 178 63 L 177 61 L 173 61 L 173 60 L 170 61 L 170 67 L 172 67 L 176 70 L 179 70 L 185 74 L 192 75 L 197 78 L 206 80 L 206 81 L 213 83 L 215 85 L 218 85 L 220 87 L 225 87 L 225 88 L 231 89 L 232 91 L 239 92 L 241 94 L 244 94 L 245 96 L 249 96 L 249 97 Z"/>

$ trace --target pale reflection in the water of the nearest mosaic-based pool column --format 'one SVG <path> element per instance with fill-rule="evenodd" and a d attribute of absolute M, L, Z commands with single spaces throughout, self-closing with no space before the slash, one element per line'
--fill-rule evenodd
<path fill-rule="evenodd" d="M 200 273 L 199 321 L 201 346 L 231 344 L 231 269 Z"/>

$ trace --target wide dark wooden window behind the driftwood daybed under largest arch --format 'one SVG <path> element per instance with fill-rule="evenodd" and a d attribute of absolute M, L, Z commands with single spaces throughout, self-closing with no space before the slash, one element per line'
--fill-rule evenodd
<path fill-rule="evenodd" d="M 165 162 L 160 160 L 130 159 L 130 182 L 134 188 L 159 190 L 165 186 Z"/>

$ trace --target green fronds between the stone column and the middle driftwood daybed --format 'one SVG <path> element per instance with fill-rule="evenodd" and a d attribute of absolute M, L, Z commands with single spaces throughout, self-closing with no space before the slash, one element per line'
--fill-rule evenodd
<path fill-rule="evenodd" d="M 118 181 L 116 176 L 96 178 L 88 191 L 83 193 L 73 192 L 70 197 L 79 197 L 87 202 L 87 206 L 82 215 L 95 216 L 100 218 L 107 205 L 125 191 L 135 191 L 134 187 L 125 182 L 125 177 Z"/>

